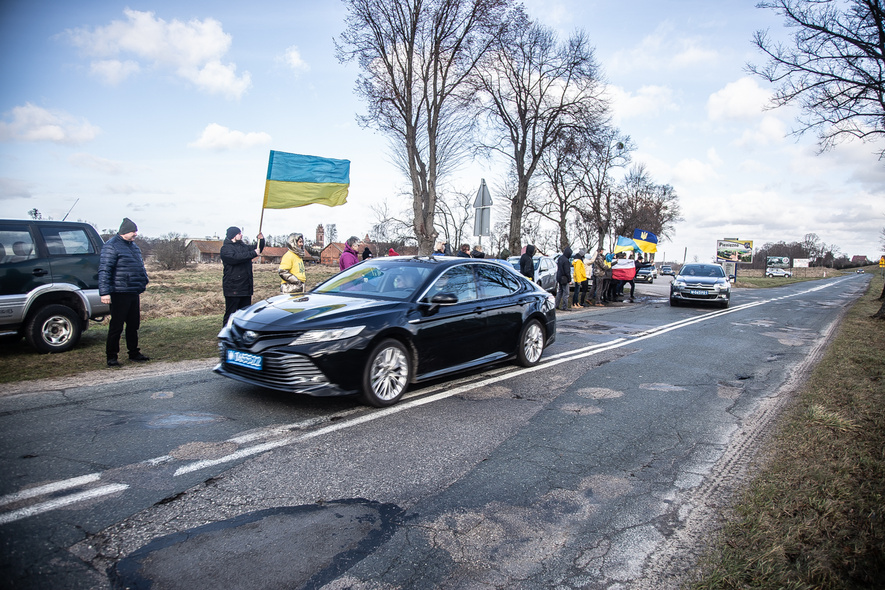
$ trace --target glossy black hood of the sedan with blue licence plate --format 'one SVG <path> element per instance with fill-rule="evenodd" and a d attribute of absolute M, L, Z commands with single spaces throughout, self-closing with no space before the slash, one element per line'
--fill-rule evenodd
<path fill-rule="evenodd" d="M 341 295 L 278 295 L 239 312 L 235 322 L 249 330 L 286 331 L 353 325 L 405 305 L 402 301 Z"/>

